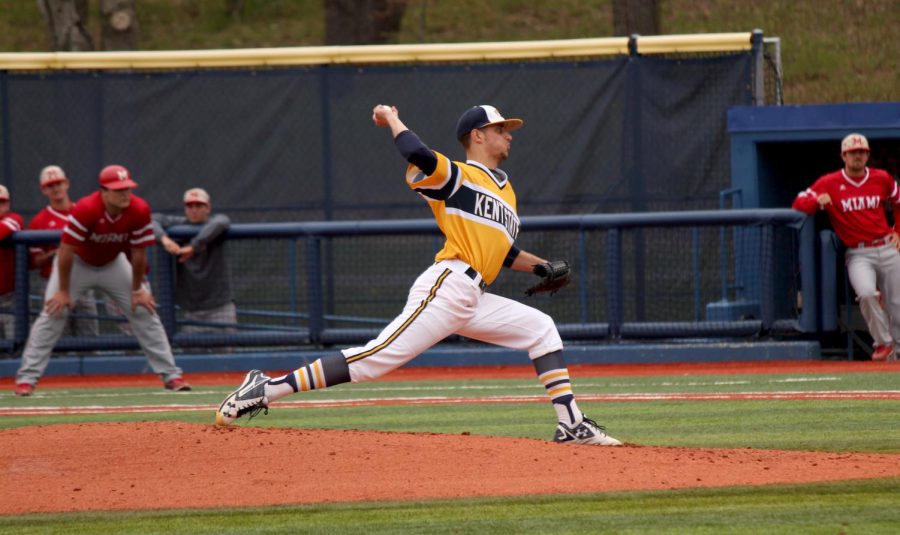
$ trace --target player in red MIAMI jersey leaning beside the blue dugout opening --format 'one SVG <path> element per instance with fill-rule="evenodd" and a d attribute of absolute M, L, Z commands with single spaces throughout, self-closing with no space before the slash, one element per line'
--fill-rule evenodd
<path fill-rule="evenodd" d="M 886 171 L 866 167 L 869 141 L 850 134 L 841 142 L 844 168 L 820 177 L 800 192 L 793 208 L 812 215 L 824 210 L 847 246 L 847 274 L 859 310 L 875 340 L 872 360 L 896 360 L 900 341 L 900 237 L 888 226 L 885 206 L 900 219 L 900 189 Z M 880 294 L 879 294 L 880 289 Z M 883 303 L 883 305 L 882 305 Z"/>

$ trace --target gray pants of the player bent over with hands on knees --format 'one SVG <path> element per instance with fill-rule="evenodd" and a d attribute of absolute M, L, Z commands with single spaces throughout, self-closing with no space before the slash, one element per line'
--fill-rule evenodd
<path fill-rule="evenodd" d="M 144 350 L 150 369 L 154 373 L 159 374 L 163 381 L 181 377 L 181 369 L 175 365 L 175 357 L 172 355 L 172 348 L 159 316 L 140 306 L 135 312 L 131 311 L 131 263 L 125 258 L 124 253 L 101 267 L 86 264 L 76 255 L 69 281 L 69 295 L 72 302 L 77 302 L 90 288 L 104 292 L 125 311 L 134 336 Z M 54 261 L 53 273 L 47 282 L 44 300 L 53 297 L 58 289 L 59 269 Z M 53 316 L 41 311 L 28 335 L 28 342 L 22 353 L 22 364 L 16 374 L 16 383 L 37 384 L 47 369 L 50 353 L 62 336 L 67 319 L 67 311 Z"/>

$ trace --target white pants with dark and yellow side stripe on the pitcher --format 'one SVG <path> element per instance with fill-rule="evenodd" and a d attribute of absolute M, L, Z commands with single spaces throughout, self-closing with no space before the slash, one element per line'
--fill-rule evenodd
<path fill-rule="evenodd" d="M 468 264 L 443 260 L 413 283 L 403 312 L 363 347 L 343 350 L 354 383 L 380 377 L 451 334 L 528 352 L 532 360 L 562 350 L 553 319 L 540 310 L 482 292 Z"/>

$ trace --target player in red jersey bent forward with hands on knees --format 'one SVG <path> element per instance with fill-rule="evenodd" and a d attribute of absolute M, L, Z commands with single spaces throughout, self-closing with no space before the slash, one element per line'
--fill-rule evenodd
<path fill-rule="evenodd" d="M 156 243 L 150 206 L 133 195 L 137 184 L 121 165 L 100 172 L 100 191 L 75 203 L 53 272 L 44 310 L 31 328 L 16 374 L 16 395 L 28 396 L 43 375 L 53 346 L 62 335 L 72 304 L 89 288 L 109 295 L 128 314 L 150 368 L 168 390 L 190 390 L 175 365 L 156 302 L 143 286 L 147 247 Z M 131 262 L 125 257 L 131 252 Z M 133 269 L 132 269 L 133 266 Z"/>

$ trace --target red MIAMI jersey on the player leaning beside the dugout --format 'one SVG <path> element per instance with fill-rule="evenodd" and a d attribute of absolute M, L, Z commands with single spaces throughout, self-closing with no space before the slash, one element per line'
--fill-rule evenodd
<path fill-rule="evenodd" d="M 827 193 L 831 203 L 825 212 L 834 232 L 848 247 L 883 238 L 891 232 L 885 215 L 885 204 L 900 203 L 897 182 L 881 169 L 866 168 L 865 176 L 856 179 L 841 169 L 823 175 L 794 199 L 793 208 L 812 215 L 819 209 L 817 198 Z M 900 217 L 900 209 L 894 212 Z"/>

